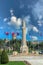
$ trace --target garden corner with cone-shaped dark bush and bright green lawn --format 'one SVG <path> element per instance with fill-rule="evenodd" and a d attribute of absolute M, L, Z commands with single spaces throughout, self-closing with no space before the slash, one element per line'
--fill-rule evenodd
<path fill-rule="evenodd" d="M 0 51 L 0 65 L 31 65 L 26 61 L 9 61 L 6 50 Z"/>

